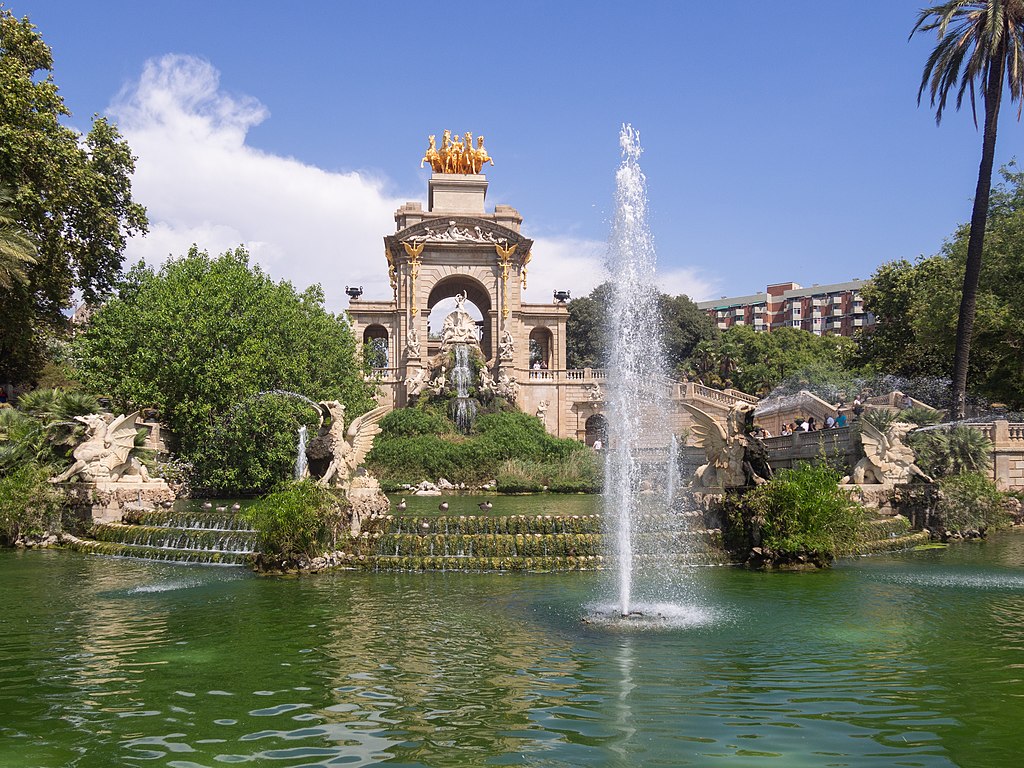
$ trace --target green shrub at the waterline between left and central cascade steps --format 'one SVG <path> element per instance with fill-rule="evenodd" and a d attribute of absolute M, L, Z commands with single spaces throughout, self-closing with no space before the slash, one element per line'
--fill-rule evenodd
<path fill-rule="evenodd" d="M 281 486 L 242 513 L 260 550 L 284 559 L 312 558 L 336 544 L 345 523 L 341 498 L 313 480 Z"/>

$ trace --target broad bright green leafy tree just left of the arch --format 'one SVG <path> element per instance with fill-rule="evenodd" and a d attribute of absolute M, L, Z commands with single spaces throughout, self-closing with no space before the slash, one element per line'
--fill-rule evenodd
<path fill-rule="evenodd" d="M 197 465 L 195 484 L 221 493 L 283 479 L 295 429 L 314 417 L 295 397 L 254 404 L 260 393 L 339 399 L 350 419 L 373 404 L 351 330 L 324 309 L 319 286 L 274 283 L 242 248 L 135 265 L 74 348 L 89 386 L 125 409 L 156 408 Z"/>

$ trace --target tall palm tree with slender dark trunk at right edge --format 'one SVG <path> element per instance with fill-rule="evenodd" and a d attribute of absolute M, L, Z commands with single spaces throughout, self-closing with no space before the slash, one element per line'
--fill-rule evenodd
<path fill-rule="evenodd" d="M 971 356 L 971 336 L 974 310 L 981 274 L 981 255 L 985 243 L 985 222 L 988 218 L 988 195 L 992 185 L 992 163 L 995 157 L 995 129 L 999 102 L 1005 87 L 1010 98 L 1020 101 L 1024 91 L 1024 0 L 947 0 L 925 8 L 910 37 L 918 32 L 936 31 L 938 44 L 925 63 L 918 89 L 918 103 L 926 90 L 935 108 L 935 122 L 942 121 L 942 112 L 950 92 L 956 90 L 956 109 L 970 95 L 975 126 L 978 124 L 975 88 L 981 91 L 985 105 L 985 128 L 981 144 L 981 166 L 978 188 L 971 214 L 971 231 L 967 246 L 967 270 L 964 274 L 964 296 L 961 299 L 956 325 L 956 351 L 953 355 L 953 391 L 951 415 L 963 419 L 966 411 L 968 361 Z M 1006 76 L 1006 80 L 1004 80 Z M 1020 118 L 1020 111 L 1017 114 Z"/>

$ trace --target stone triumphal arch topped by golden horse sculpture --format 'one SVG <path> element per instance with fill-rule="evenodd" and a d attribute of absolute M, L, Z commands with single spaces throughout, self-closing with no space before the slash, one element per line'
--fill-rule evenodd
<path fill-rule="evenodd" d="M 394 233 L 384 237 L 382 268 L 386 264 L 391 298 L 353 296 L 349 302 L 356 338 L 373 349 L 380 396 L 401 408 L 436 384 L 439 352 L 454 329 L 430 327 L 430 311 L 454 300 L 458 316 L 465 318 L 460 340 L 479 346 L 483 375 L 502 394 L 542 418 L 552 434 L 598 439 L 606 424 L 604 371 L 566 370 L 567 294 L 525 301 L 534 241 L 522 233 L 522 216 L 514 208 L 485 210 L 487 179 L 481 170 L 490 159 L 482 137 L 476 146 L 469 138 L 453 139 L 445 132 L 438 148 L 431 137 L 423 159 L 433 170 L 426 208 L 402 205 L 394 214 Z M 478 319 L 462 313 L 466 304 L 478 310 Z M 666 380 L 665 387 L 673 399 L 695 394 L 689 391 L 693 384 Z M 731 404 L 726 399 L 716 393 L 706 407 L 724 414 Z M 683 409 L 677 414 L 676 428 L 682 431 L 688 417 Z"/>

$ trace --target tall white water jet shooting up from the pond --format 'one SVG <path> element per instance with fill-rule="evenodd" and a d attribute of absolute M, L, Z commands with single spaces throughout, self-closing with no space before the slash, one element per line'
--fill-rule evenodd
<path fill-rule="evenodd" d="M 639 132 L 624 125 L 620 145 L 623 161 L 615 174 L 615 218 L 607 256 L 615 290 L 609 306 L 609 444 L 605 452 L 604 508 L 607 529 L 614 531 L 610 537 L 613 551 L 609 554 L 614 564 L 615 610 L 629 616 L 643 612 L 637 610 L 640 598 L 644 606 L 650 606 L 663 605 L 675 597 L 667 575 L 674 569 L 658 559 L 664 552 L 653 550 L 670 540 L 678 541 L 678 537 L 649 529 L 651 519 L 670 517 L 665 514 L 665 496 L 654 495 L 652 488 L 653 478 L 662 476 L 662 468 L 657 467 L 656 472 L 645 470 L 650 468 L 652 453 L 670 447 L 671 428 L 658 333 L 656 259 L 647 225 L 647 185 L 639 164 Z M 643 505 L 647 506 L 646 515 Z M 643 548 L 638 546 L 641 539 Z M 642 589 L 638 591 L 639 556 L 645 558 L 649 574 L 643 574 Z"/>

